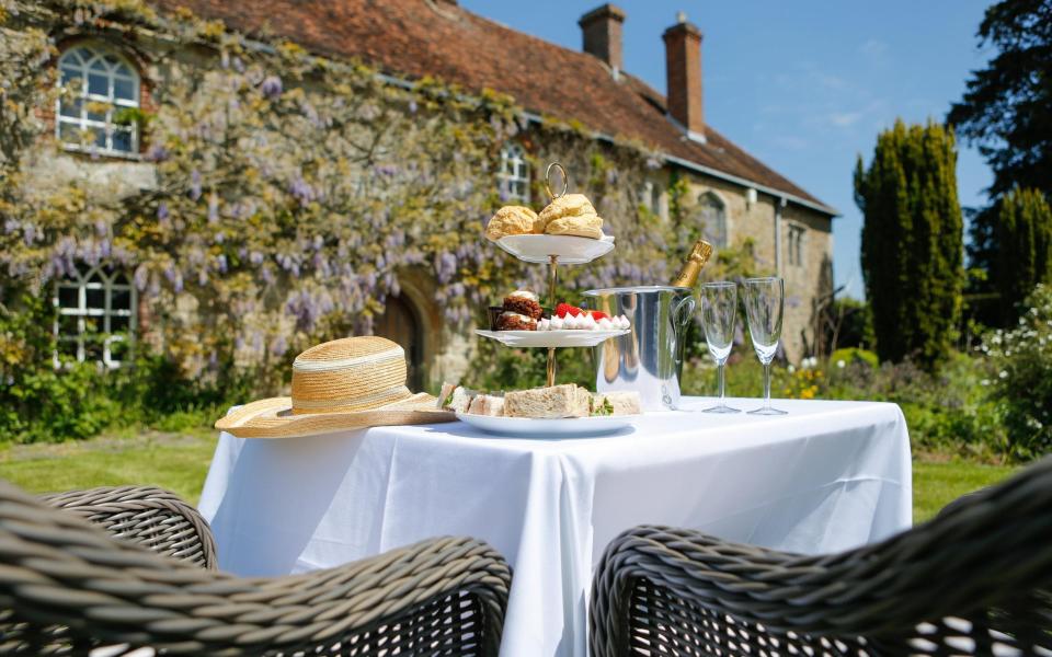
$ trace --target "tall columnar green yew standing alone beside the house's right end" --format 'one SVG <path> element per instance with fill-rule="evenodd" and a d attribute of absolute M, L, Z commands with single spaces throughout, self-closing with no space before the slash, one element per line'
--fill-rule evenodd
<path fill-rule="evenodd" d="M 934 369 L 953 344 L 961 312 L 963 238 L 950 128 L 896 120 L 877 138 L 869 169 L 859 155 L 862 275 L 882 360 Z"/>

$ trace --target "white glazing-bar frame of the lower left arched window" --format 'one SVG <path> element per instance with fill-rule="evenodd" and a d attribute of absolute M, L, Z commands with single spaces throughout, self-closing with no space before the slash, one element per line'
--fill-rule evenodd
<path fill-rule="evenodd" d="M 114 343 L 128 341 L 128 348 L 126 350 L 128 356 L 132 356 L 133 349 L 135 348 L 135 334 L 138 328 L 136 316 L 138 314 L 136 312 L 138 309 L 138 295 L 135 286 L 132 285 L 132 279 L 126 272 L 115 270 L 112 274 L 107 274 L 105 265 L 96 265 L 90 268 L 87 274 L 82 274 L 78 267 L 75 269 L 75 277 L 64 278 L 55 283 L 55 296 L 52 299 L 52 303 L 55 306 L 55 322 L 52 327 L 55 341 L 56 343 L 76 343 L 77 362 L 84 362 L 87 360 L 84 343 L 85 336 L 88 335 L 85 320 L 88 318 L 102 318 L 102 331 L 98 333 L 98 336 L 102 337 L 102 364 L 110 369 L 119 368 L 125 361 L 114 358 L 111 347 Z M 101 283 L 92 280 L 96 274 L 102 279 Z M 116 279 L 118 277 L 126 283 L 117 283 Z M 60 291 L 62 289 L 75 289 L 77 291 L 76 308 L 62 307 L 59 303 Z M 99 289 L 103 290 L 103 307 L 89 308 L 88 290 Z M 129 308 L 113 308 L 114 293 L 125 291 L 128 292 Z M 64 315 L 77 318 L 77 335 L 64 335 L 60 333 L 60 324 Z M 111 319 L 115 316 L 128 318 L 127 335 L 112 333 Z M 60 349 L 56 348 L 53 355 L 56 369 L 66 365 L 59 356 L 59 353 Z"/>

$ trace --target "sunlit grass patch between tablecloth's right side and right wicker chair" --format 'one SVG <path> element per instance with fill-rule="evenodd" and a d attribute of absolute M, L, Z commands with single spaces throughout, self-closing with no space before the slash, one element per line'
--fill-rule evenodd
<path fill-rule="evenodd" d="M 913 521 L 923 522 L 947 504 L 1006 479 L 1017 469 L 1010 465 L 984 465 L 967 461 L 913 462 Z"/>

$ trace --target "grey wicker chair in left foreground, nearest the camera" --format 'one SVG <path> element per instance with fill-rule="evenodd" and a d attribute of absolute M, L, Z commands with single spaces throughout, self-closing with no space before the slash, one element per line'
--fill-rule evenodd
<path fill-rule="evenodd" d="M 0 482 L 0 654 L 498 654 L 511 572 L 474 539 L 238 578 L 116 540 Z"/>

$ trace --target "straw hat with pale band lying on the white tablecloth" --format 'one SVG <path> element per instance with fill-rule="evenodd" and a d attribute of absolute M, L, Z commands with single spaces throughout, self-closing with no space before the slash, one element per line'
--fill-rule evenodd
<path fill-rule="evenodd" d="M 376 336 L 311 347 L 293 362 L 293 396 L 245 404 L 216 423 L 238 438 L 293 438 L 342 429 L 451 422 L 405 387 L 405 351 Z"/>

